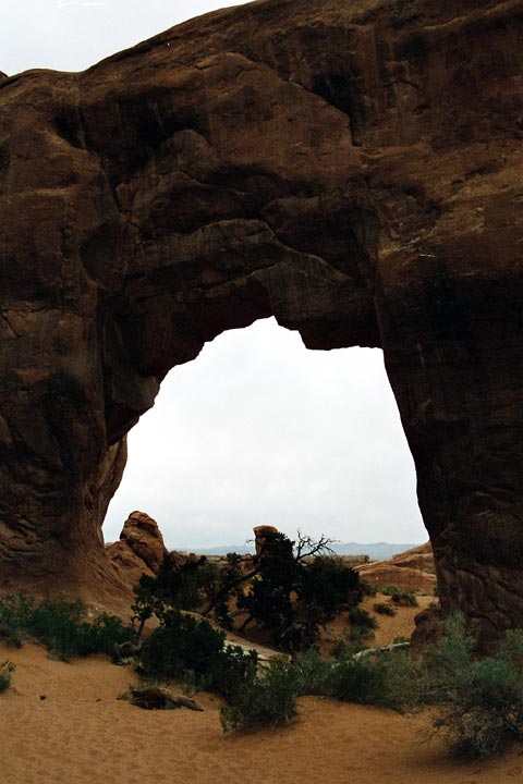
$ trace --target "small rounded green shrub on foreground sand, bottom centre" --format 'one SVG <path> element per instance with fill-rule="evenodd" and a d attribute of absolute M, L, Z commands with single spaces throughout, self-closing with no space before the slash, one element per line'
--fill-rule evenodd
<path fill-rule="evenodd" d="M 290 724 L 296 715 L 299 693 L 296 667 L 284 659 L 272 660 L 221 708 L 223 731 Z"/>

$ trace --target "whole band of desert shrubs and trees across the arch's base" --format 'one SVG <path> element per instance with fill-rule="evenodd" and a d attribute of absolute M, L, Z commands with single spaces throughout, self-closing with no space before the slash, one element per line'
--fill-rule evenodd
<path fill-rule="evenodd" d="M 415 595 L 390 586 L 365 589 L 357 573 L 337 559 L 320 551 L 296 558 L 283 536 L 267 541 L 247 572 L 234 555 L 221 574 L 206 559 L 186 564 L 166 559 L 156 577 L 136 586 L 127 623 L 109 613 L 88 616 L 80 600 L 4 597 L 0 638 L 11 649 L 37 641 L 62 661 L 95 652 L 120 661 L 129 651 L 127 661 L 147 683 L 175 682 L 186 691 L 219 695 L 226 732 L 291 724 L 299 700 L 317 696 L 403 713 L 430 707 L 426 735 L 442 737 L 466 758 L 483 759 L 521 740 L 523 632 L 508 633 L 497 652 L 479 657 L 463 617 L 454 615 L 423 656 L 397 647 L 366 650 L 376 617 L 392 622 L 400 609 L 417 604 Z M 374 613 L 361 605 L 365 593 Z M 378 596 L 384 601 L 374 601 Z M 186 608 L 203 609 L 212 623 Z M 344 633 L 327 644 L 320 632 L 340 614 Z M 275 652 L 260 666 L 248 642 L 227 642 L 219 621 L 228 628 L 268 632 L 284 656 Z M 9 660 L 1 665 L 0 690 L 8 689 L 13 670 Z"/>

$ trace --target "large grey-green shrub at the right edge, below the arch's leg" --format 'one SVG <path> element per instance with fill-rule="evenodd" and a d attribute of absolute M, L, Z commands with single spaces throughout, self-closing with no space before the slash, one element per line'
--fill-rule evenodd
<path fill-rule="evenodd" d="M 523 739 L 523 630 L 509 632 L 497 653 L 479 658 L 457 613 L 423 657 L 398 651 L 385 664 L 391 705 L 434 706 L 429 737 L 441 735 L 457 755 L 482 759 Z"/>

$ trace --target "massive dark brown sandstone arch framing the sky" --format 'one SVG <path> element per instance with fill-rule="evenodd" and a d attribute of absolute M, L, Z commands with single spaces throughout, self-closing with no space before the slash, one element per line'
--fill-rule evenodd
<path fill-rule="evenodd" d="M 523 625 L 522 26 L 518 0 L 260 0 L 0 82 L 5 580 L 109 578 L 125 433 L 275 315 L 382 347 L 443 605 Z"/>

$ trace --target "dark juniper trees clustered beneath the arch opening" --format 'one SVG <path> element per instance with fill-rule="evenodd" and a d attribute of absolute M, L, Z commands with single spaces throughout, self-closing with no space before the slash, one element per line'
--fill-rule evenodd
<path fill-rule="evenodd" d="M 231 553 L 218 568 L 199 558 L 180 563 L 166 556 L 156 577 L 144 576 L 133 605 L 138 636 L 151 615 L 166 610 L 200 610 L 223 628 L 255 637 L 265 633 L 279 650 L 307 648 L 340 611 L 346 611 L 354 635 L 367 634 L 373 620 L 358 609 L 363 588 L 357 572 L 342 559 L 328 556 L 330 540 L 299 534 L 294 542 L 278 531 L 266 532 L 264 546 L 246 568 Z"/>

